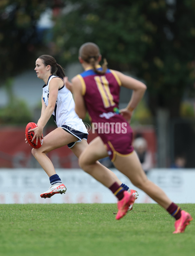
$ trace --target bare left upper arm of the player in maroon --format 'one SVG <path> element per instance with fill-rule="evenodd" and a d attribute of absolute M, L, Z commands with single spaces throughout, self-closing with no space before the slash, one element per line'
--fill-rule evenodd
<path fill-rule="evenodd" d="M 81 119 L 85 119 L 87 109 L 82 94 L 82 84 L 77 76 L 72 78 L 72 91 L 74 95 L 75 112 Z"/>

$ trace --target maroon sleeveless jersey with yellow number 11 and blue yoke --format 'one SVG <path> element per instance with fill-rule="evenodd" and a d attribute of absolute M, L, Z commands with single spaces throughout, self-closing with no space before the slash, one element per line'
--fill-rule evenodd
<path fill-rule="evenodd" d="M 101 66 L 98 66 L 101 70 Z M 82 83 L 83 97 L 92 128 L 104 143 L 126 134 L 132 142 L 132 129 L 119 113 L 119 96 L 121 81 L 110 69 L 99 75 L 92 69 L 86 69 L 77 75 Z"/>

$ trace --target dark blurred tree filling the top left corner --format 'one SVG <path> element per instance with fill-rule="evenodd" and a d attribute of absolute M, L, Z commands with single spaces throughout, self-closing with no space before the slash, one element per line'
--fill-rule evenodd
<path fill-rule="evenodd" d="M 37 30 L 37 21 L 46 8 L 55 8 L 56 2 L 0 1 L 0 85 L 7 77 L 34 66 L 34 56 L 46 47 L 42 43 L 42 35 Z"/>

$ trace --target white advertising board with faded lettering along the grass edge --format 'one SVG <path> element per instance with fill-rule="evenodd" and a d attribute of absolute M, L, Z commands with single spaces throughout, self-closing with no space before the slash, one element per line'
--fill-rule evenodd
<path fill-rule="evenodd" d="M 50 186 L 43 169 L 0 169 L 0 203 L 115 203 L 111 191 L 81 169 L 56 169 L 67 187 L 66 194 L 43 199 L 40 194 Z M 129 179 L 113 169 L 118 178 L 139 196 L 136 203 L 153 203 Z M 149 180 L 161 187 L 175 203 L 195 203 L 195 169 L 153 169 Z"/>

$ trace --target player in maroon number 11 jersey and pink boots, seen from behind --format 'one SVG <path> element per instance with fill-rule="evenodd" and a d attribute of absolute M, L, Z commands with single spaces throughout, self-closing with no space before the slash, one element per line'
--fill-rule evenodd
<path fill-rule="evenodd" d="M 76 113 L 84 119 L 88 111 L 92 127 L 99 135 L 81 153 L 79 165 L 91 175 L 98 172 L 100 182 L 106 184 L 113 193 L 121 193 L 116 219 L 126 214 L 133 197 L 127 191 L 123 191 L 114 180 L 107 177 L 103 168 L 97 165 L 97 160 L 106 156 L 110 156 L 115 167 L 135 186 L 142 189 L 175 217 L 174 233 L 184 232 L 192 220 L 191 215 L 181 210 L 160 187 L 147 179 L 132 147 L 133 132 L 129 122 L 133 110 L 146 91 L 146 85 L 121 72 L 108 69 L 106 62 L 101 67 L 100 60 L 98 46 L 91 42 L 85 43 L 79 49 L 79 61 L 85 71 L 75 76 L 72 83 L 67 77 L 64 78 L 67 88 L 73 90 Z M 133 93 L 127 107 L 119 111 L 121 86 L 133 90 Z"/>

